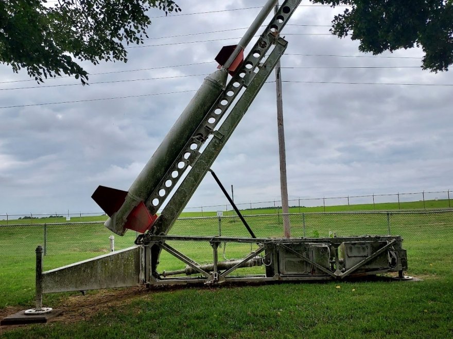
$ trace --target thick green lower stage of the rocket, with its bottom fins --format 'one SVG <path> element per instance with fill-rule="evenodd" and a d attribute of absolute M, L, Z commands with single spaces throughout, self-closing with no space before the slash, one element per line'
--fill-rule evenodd
<path fill-rule="evenodd" d="M 155 150 L 142 172 L 132 183 L 128 192 L 119 191 L 123 194 L 110 194 L 107 190 L 113 189 L 98 187 L 92 198 L 109 215 L 110 218 L 105 223 L 109 230 L 118 235 L 124 235 L 128 228 L 137 230 L 130 225 L 128 227 L 128 223 L 134 218 L 138 218 L 136 222 L 141 224 L 149 222 L 148 227 L 152 224 L 155 216 L 149 215 L 149 211 L 144 210 L 146 209 L 145 202 L 181 154 L 212 106 L 217 102 L 226 85 L 227 77 L 228 70 L 223 68 L 216 70 L 204 79 L 203 84 L 171 127 L 160 146 Z M 101 190 L 103 191 L 101 192 Z M 116 196 L 113 198 L 116 201 L 110 200 L 110 197 L 113 196 Z M 120 201 L 117 201 L 118 199 Z M 115 207 L 112 205 L 115 205 Z M 120 207 L 117 209 L 119 205 Z M 146 213 L 148 213 L 149 218 Z"/>

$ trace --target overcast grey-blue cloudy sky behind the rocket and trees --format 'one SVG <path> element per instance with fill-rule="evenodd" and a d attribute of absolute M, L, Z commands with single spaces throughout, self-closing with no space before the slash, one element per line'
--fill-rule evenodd
<path fill-rule="evenodd" d="M 250 7 L 265 1 L 177 3 L 182 14 L 229 11 L 167 17 L 153 11 L 149 47 L 129 48 L 126 64 L 83 64 L 90 86 L 71 78 L 37 85 L 0 65 L 0 106 L 24 105 L 0 108 L 0 215 L 97 212 L 91 195 L 98 185 L 128 190 L 194 92 L 154 94 L 198 89 L 203 74 L 215 70 L 220 48 L 237 43 L 253 21 L 259 8 Z M 301 6 L 295 12 L 282 32 L 289 41 L 284 81 L 453 84 L 451 71 L 420 68 L 420 49 L 383 54 L 398 58 L 326 56 L 370 56 L 349 38 L 320 35 L 340 11 Z M 231 31 L 198 34 L 220 30 Z M 112 73 L 96 74 L 106 72 Z M 186 77 L 130 81 L 179 76 Z M 18 87 L 38 88 L 11 89 Z M 289 198 L 453 189 L 452 89 L 285 82 Z M 138 95 L 149 96 L 37 105 Z M 263 87 L 213 170 L 225 186 L 234 185 L 237 202 L 280 199 L 274 83 Z M 188 206 L 225 201 L 206 176 Z"/>

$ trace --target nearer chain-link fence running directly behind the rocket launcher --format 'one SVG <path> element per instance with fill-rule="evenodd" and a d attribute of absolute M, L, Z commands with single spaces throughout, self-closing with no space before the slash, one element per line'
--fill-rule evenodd
<path fill-rule="evenodd" d="M 439 260 L 450 256 L 453 244 L 453 210 L 294 213 L 289 215 L 292 237 L 333 237 L 353 235 L 400 235 L 408 250 L 409 268 L 417 271 L 420 260 Z M 283 237 L 281 214 L 245 215 L 257 237 Z M 16 224 L 0 226 L 2 263 L 34 268 L 34 250 L 44 247 L 44 269 L 109 253 L 112 232 L 103 222 Z M 180 218 L 169 235 L 250 237 L 237 216 Z M 115 250 L 134 246 L 137 234 L 128 231 L 115 236 Z M 170 246 L 199 263 L 212 262 L 208 242 L 171 241 Z M 219 260 L 241 258 L 255 244 L 229 243 L 219 249 Z M 182 263 L 162 252 L 160 270 L 181 269 Z"/>

